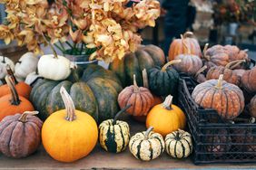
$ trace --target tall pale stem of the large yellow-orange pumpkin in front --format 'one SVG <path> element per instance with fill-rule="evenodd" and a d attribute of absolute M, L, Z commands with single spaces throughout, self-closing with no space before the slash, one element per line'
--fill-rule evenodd
<path fill-rule="evenodd" d="M 74 102 L 63 86 L 61 87 L 60 93 L 62 99 L 64 100 L 64 106 L 66 109 L 66 120 L 73 121 L 75 119 Z"/>

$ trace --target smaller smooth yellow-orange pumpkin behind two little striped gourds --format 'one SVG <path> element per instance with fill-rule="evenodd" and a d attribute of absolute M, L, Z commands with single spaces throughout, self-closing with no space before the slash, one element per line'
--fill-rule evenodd
<path fill-rule="evenodd" d="M 154 131 L 162 137 L 186 125 L 186 117 L 182 109 L 172 104 L 172 96 L 166 97 L 164 102 L 156 105 L 149 112 L 146 119 L 146 127 L 153 127 Z"/>

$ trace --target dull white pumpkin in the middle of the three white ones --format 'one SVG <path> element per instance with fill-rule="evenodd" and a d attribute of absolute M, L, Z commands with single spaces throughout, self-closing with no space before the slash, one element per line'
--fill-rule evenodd
<path fill-rule="evenodd" d="M 25 80 L 29 73 L 36 70 L 37 62 L 38 59 L 33 52 L 26 52 L 15 64 L 15 77 L 19 80 Z"/>

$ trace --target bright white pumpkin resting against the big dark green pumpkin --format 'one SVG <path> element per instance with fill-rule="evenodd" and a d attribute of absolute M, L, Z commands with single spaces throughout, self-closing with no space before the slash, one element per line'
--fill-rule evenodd
<path fill-rule="evenodd" d="M 71 61 L 63 56 L 54 54 L 43 55 L 37 65 L 39 75 L 49 80 L 64 80 L 71 73 Z"/>

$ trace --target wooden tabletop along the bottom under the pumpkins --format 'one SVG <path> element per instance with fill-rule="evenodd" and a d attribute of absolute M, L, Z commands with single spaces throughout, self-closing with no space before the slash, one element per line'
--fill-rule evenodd
<path fill-rule="evenodd" d="M 144 130 L 143 124 L 135 122 L 130 117 L 123 117 L 129 122 L 132 135 L 138 131 Z M 127 148 L 123 153 L 112 154 L 105 152 L 101 146 L 97 145 L 94 151 L 87 157 L 78 160 L 72 164 L 64 164 L 55 161 L 44 151 L 41 146 L 33 156 L 24 159 L 11 159 L 0 155 L 0 169 L 222 169 L 222 168 L 256 168 L 255 165 L 193 165 L 190 158 L 187 159 L 172 159 L 165 152 L 162 156 L 154 159 L 151 162 L 143 162 L 135 159 Z"/>

